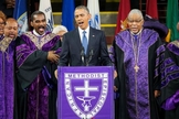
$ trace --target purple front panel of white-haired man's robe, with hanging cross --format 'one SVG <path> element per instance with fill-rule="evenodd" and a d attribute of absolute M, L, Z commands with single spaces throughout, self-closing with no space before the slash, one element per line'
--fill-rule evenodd
<path fill-rule="evenodd" d="M 128 118 L 150 118 L 148 50 L 158 40 L 158 34 L 144 29 L 138 36 L 129 31 L 116 35 L 116 45 L 124 52 L 126 77 L 126 106 Z M 152 34 L 152 40 L 150 37 Z M 137 40 L 137 41 L 136 41 Z M 152 71 L 150 71 L 152 72 Z"/>

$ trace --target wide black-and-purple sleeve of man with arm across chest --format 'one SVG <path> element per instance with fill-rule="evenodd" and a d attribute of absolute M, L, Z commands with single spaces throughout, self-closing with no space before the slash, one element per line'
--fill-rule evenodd
<path fill-rule="evenodd" d="M 31 50 L 21 41 L 17 46 L 17 77 L 21 87 L 25 89 L 41 72 L 45 64 L 48 52 Z"/>

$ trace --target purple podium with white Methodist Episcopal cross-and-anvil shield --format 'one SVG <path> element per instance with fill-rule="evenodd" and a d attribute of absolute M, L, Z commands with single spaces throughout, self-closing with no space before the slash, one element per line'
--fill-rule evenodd
<path fill-rule="evenodd" d="M 57 67 L 57 119 L 114 119 L 112 66 Z"/>

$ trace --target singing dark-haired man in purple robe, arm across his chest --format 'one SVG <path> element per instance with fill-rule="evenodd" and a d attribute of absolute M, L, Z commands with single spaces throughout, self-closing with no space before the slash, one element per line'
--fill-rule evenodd
<path fill-rule="evenodd" d="M 56 119 L 56 79 L 60 36 L 46 32 L 45 14 L 31 14 L 33 31 L 17 42 L 19 119 Z"/>

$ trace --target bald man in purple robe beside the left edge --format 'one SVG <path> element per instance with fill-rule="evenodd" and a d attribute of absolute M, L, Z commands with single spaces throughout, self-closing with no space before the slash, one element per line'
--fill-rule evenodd
<path fill-rule="evenodd" d="M 2 21 L 0 21 L 2 22 Z M 13 119 L 14 110 L 14 51 L 18 22 L 9 18 L 3 21 L 4 35 L 0 40 L 0 118 Z"/>

